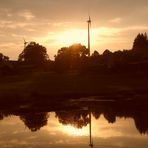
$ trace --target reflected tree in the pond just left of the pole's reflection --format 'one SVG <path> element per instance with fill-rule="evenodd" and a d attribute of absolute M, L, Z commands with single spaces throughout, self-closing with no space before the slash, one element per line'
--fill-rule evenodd
<path fill-rule="evenodd" d="M 56 112 L 56 117 L 58 117 L 59 122 L 62 123 L 63 125 L 70 124 L 76 128 L 82 128 L 83 126 L 87 126 L 87 124 L 89 123 L 89 117 L 86 111 Z"/>

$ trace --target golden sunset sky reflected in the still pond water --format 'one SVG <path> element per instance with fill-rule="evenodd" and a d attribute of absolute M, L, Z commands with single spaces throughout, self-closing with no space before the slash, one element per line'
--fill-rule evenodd
<path fill-rule="evenodd" d="M 101 148 L 147 148 L 148 136 L 140 135 L 132 119 L 117 118 L 108 124 L 103 116 L 92 118 L 92 135 L 95 147 Z M 27 148 L 87 148 L 89 128 L 75 129 L 58 123 L 54 113 L 50 113 L 48 125 L 40 131 L 31 132 L 19 117 L 12 116 L 0 121 L 0 145 L 4 147 Z"/>

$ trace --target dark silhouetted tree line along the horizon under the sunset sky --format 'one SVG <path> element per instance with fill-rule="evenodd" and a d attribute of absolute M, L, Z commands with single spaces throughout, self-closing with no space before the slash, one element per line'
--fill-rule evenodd
<path fill-rule="evenodd" d="M 86 46 L 73 44 L 59 49 L 54 56 L 54 61 L 49 59 L 47 49 L 36 42 L 28 43 L 15 62 L 10 61 L 9 57 L 0 53 L 1 73 L 7 71 L 9 73 L 14 68 L 22 70 L 23 68 L 29 69 L 29 67 L 30 69 L 40 68 L 56 72 L 80 71 L 99 73 L 147 69 L 148 37 L 146 33 L 139 33 L 134 39 L 133 47 L 130 50 L 111 52 L 106 49 L 102 54 L 94 51 L 91 56 L 89 56 L 89 50 Z"/>

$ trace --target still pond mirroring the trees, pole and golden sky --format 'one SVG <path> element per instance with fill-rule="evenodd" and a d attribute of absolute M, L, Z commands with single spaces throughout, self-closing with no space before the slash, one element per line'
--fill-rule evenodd
<path fill-rule="evenodd" d="M 148 147 L 146 102 L 70 100 L 62 104 L 2 108 L 1 148 Z"/>

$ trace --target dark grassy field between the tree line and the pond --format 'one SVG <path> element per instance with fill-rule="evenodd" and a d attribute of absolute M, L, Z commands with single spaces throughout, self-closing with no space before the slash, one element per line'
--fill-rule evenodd
<path fill-rule="evenodd" d="M 0 79 L 0 102 L 76 99 L 147 99 L 148 78 L 144 74 L 78 74 L 36 72 Z"/>

